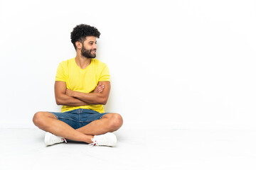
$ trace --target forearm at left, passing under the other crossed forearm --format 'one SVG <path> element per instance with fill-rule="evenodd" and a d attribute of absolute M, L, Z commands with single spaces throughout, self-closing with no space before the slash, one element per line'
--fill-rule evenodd
<path fill-rule="evenodd" d="M 58 97 L 55 96 L 55 99 L 58 105 L 63 105 L 63 106 L 86 106 L 89 104 L 89 103 L 86 103 L 85 101 L 81 101 L 78 98 L 74 98 L 66 94 L 61 94 Z"/>

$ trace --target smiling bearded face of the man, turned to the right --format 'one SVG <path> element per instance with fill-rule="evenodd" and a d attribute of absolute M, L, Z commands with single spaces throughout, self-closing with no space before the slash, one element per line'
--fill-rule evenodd
<path fill-rule="evenodd" d="M 97 50 L 97 41 L 94 36 L 87 36 L 82 44 L 81 55 L 87 58 L 95 58 Z"/>

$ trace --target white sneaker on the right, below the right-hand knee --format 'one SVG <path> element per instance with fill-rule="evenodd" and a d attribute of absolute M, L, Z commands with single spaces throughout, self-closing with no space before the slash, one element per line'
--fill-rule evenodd
<path fill-rule="evenodd" d="M 112 132 L 107 132 L 103 135 L 95 135 L 92 138 L 90 146 L 109 146 L 114 147 L 117 144 L 117 137 Z"/>

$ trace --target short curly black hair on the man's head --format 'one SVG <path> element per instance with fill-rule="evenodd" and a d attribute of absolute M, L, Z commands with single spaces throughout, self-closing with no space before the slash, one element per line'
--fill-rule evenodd
<path fill-rule="evenodd" d="M 100 32 L 99 30 L 97 30 L 97 28 L 86 25 L 86 24 L 80 24 L 78 26 L 75 26 L 75 28 L 73 28 L 70 38 L 71 38 L 71 42 L 75 47 L 75 50 L 76 50 L 75 42 L 77 41 L 84 42 L 87 36 L 95 36 L 97 38 L 100 38 Z"/>

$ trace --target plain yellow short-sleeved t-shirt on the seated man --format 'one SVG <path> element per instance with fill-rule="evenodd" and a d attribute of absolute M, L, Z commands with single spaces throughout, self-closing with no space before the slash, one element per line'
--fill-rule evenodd
<path fill-rule="evenodd" d="M 99 81 L 110 81 L 110 71 L 107 64 L 97 59 L 92 59 L 89 66 L 85 69 L 81 69 L 78 67 L 78 64 L 76 64 L 75 58 L 72 58 L 60 62 L 55 81 L 65 81 L 67 89 L 89 94 L 95 90 Z M 104 113 L 102 105 L 63 106 L 61 112 L 72 111 L 78 108 Z"/>

